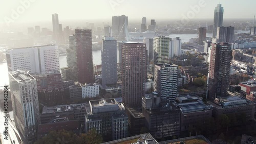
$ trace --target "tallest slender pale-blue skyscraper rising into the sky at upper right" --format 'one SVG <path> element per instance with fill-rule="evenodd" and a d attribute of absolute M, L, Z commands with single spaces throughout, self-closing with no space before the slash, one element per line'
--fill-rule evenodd
<path fill-rule="evenodd" d="M 218 4 L 214 10 L 214 28 L 212 32 L 212 38 L 216 38 L 218 27 L 222 27 L 223 12 L 224 12 L 223 7 L 221 7 L 221 4 Z"/>

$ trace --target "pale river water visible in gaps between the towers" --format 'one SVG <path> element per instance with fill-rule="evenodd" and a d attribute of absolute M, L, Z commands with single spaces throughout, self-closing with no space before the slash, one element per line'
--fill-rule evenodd
<path fill-rule="evenodd" d="M 238 33 L 248 33 L 249 31 L 239 31 Z M 207 33 L 207 37 L 211 37 L 212 33 Z M 188 42 L 190 38 L 198 37 L 198 34 L 171 34 L 169 35 L 170 38 L 180 37 L 182 43 Z M 204 56 L 206 59 L 206 56 Z M 208 58 L 209 61 L 209 58 Z M 119 51 L 117 49 L 117 62 L 119 62 Z M 101 64 L 101 51 L 93 51 L 93 63 L 98 65 Z M 59 65 L 61 67 L 67 66 L 67 57 L 60 56 L 59 57 Z M 4 85 L 9 85 L 9 78 L 8 78 L 8 68 L 7 63 L 0 63 L 0 87 Z"/>

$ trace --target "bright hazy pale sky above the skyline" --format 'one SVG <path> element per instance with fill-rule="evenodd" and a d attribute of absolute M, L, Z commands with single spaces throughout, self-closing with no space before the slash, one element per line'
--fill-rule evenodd
<path fill-rule="evenodd" d="M 26 8 L 21 2 L 26 3 Z M 51 20 L 51 14 L 58 13 L 59 21 L 68 19 L 109 19 L 113 15 L 125 14 L 129 19 L 181 19 L 191 7 L 204 7 L 191 19 L 213 19 L 217 4 L 224 7 L 225 18 L 251 18 L 256 14 L 255 0 L 0 0 L 0 23 Z M 23 9 L 24 8 L 24 9 Z M 18 10 L 17 10 L 18 9 Z M 13 11 L 18 12 L 12 17 Z M 10 18 L 10 19 L 9 19 Z M 3 24 L 3 23 L 2 23 Z"/>

